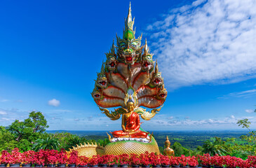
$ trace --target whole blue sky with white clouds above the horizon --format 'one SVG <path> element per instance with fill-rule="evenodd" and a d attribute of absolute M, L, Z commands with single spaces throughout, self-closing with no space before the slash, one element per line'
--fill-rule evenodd
<path fill-rule="evenodd" d="M 243 2 L 243 3 L 242 3 Z M 129 1 L 1 1 L 0 122 L 41 111 L 48 130 L 120 130 L 90 92 Z M 131 1 L 168 90 L 144 130 L 256 128 L 253 0 Z"/>

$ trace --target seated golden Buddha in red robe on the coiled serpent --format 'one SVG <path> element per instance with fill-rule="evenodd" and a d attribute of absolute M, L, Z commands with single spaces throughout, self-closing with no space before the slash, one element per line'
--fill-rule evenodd
<path fill-rule="evenodd" d="M 131 99 L 127 102 L 126 113 L 122 116 L 122 129 L 112 132 L 113 137 L 116 138 L 147 138 L 148 132 L 142 132 L 140 130 L 140 116 L 134 111 L 134 103 Z"/>

